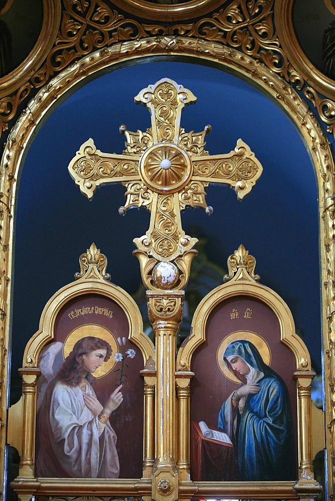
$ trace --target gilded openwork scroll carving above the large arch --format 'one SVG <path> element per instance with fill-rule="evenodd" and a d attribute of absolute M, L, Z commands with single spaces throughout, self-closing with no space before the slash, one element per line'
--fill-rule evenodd
<path fill-rule="evenodd" d="M 52 25 L 53 30 L 59 26 L 54 45 L 48 54 L 49 45 L 41 46 L 39 43 L 36 45 L 32 61 L 37 59 L 40 62 L 42 51 L 46 56 L 44 64 L 33 75 L 29 72 L 24 74 L 24 85 L 15 95 L 1 94 L 0 87 L 0 97 L 4 96 L 3 99 L 0 99 L 0 133 L 7 130 L 8 123 L 16 116 L 20 103 L 27 101 L 27 98 L 31 97 L 36 89 L 46 85 L 54 75 L 69 68 L 81 57 L 85 57 L 97 49 L 105 50 L 106 47 L 114 46 L 119 41 L 134 41 L 136 43 L 146 37 L 164 38 L 174 35 L 179 38 L 187 36 L 190 41 L 218 42 L 226 47 L 228 52 L 230 48 L 237 49 L 246 57 L 262 63 L 278 74 L 292 88 L 301 89 L 305 80 L 311 76 L 310 63 L 306 62 L 294 36 L 291 22 L 293 0 L 277 0 L 277 2 L 274 0 L 265 0 L 264 2 L 234 0 L 228 6 L 214 12 L 210 17 L 182 24 L 176 21 L 184 19 L 184 16 L 188 14 L 188 19 L 191 20 L 193 14 L 204 14 L 208 8 L 218 9 L 220 3 L 216 0 L 210 0 L 210 2 L 192 0 L 175 7 L 169 6 L 164 11 L 166 14 L 166 19 L 164 19 L 162 6 L 149 4 L 143 0 L 142 6 L 138 6 L 138 2 L 134 0 L 117 0 L 115 2 L 122 9 L 129 9 L 128 12 L 136 11 L 136 15 L 141 17 L 145 14 L 145 19 L 156 21 L 153 24 L 141 24 L 119 14 L 107 4 L 100 6 L 97 0 L 90 3 L 64 0 L 64 9 L 59 25 L 57 23 L 59 2 L 53 1 L 55 4 L 52 4 L 52 8 L 47 9 L 44 5 L 44 9 L 46 19 Z M 46 3 L 44 0 L 44 4 Z M 274 24 L 274 11 L 276 26 Z M 166 20 L 170 22 L 159 24 L 159 21 Z M 43 34 L 45 35 L 44 32 Z M 53 39 L 54 37 L 48 38 L 48 43 L 50 44 L 50 40 Z M 293 48 L 293 52 L 290 48 Z M 320 74 L 313 82 L 315 89 L 319 92 L 323 91 L 323 93 L 325 91 L 332 99 L 333 86 L 331 81 L 327 82 L 326 87 L 321 83 L 324 83 L 324 77 L 322 79 Z M 12 88 L 4 85 L 3 92 L 12 92 Z M 312 94 L 313 88 L 308 87 L 305 91 L 306 99 L 310 99 Z M 334 104 L 331 99 L 321 99 L 324 101 L 324 106 L 317 106 L 317 111 L 322 121 L 331 122 L 328 129 L 334 133 L 332 127 L 334 120 L 332 120 L 331 114 Z M 314 100 L 317 101 L 317 99 Z"/>

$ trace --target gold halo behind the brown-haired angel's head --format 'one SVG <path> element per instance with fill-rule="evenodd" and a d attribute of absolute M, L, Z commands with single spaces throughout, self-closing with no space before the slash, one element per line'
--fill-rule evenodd
<path fill-rule="evenodd" d="M 104 362 L 104 364 L 101 367 L 98 367 L 98 369 L 94 372 L 94 377 L 98 379 L 108 374 L 116 364 L 114 355 L 118 351 L 117 343 L 113 334 L 105 327 L 95 324 L 81 325 L 80 327 L 77 327 L 72 332 L 70 332 L 64 342 L 64 360 L 70 355 L 76 342 L 79 341 L 79 339 L 86 338 L 86 336 L 93 336 L 95 338 L 103 339 L 104 341 L 107 341 L 107 343 L 109 343 L 112 347 L 112 355 L 110 359 L 107 360 L 107 362 Z"/>

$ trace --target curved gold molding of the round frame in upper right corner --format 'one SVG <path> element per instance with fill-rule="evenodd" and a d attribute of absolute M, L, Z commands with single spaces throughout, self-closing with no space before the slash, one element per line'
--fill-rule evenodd
<path fill-rule="evenodd" d="M 314 89 L 330 99 L 335 99 L 334 81 L 315 68 L 303 52 L 296 38 L 292 19 L 293 2 L 294 0 L 279 0 L 275 2 L 275 25 L 280 44 L 288 60 L 306 83 L 312 85 Z"/>

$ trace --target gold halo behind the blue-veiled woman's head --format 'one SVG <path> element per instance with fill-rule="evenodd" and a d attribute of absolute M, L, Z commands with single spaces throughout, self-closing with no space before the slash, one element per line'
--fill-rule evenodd
<path fill-rule="evenodd" d="M 220 371 L 224 376 L 226 376 L 227 379 L 230 379 L 231 381 L 241 383 L 237 377 L 234 376 L 232 372 L 228 369 L 227 365 L 225 364 L 223 360 L 223 356 L 225 354 L 226 348 L 230 343 L 233 343 L 234 341 L 250 341 L 254 346 L 256 346 L 257 350 L 261 354 L 261 357 L 266 365 L 270 365 L 271 363 L 271 351 L 269 348 L 269 345 L 265 341 L 264 338 L 262 338 L 259 334 L 256 334 L 255 332 L 252 331 L 236 331 L 232 332 L 229 334 L 227 337 L 225 337 L 218 348 L 217 351 L 217 362 Z"/>

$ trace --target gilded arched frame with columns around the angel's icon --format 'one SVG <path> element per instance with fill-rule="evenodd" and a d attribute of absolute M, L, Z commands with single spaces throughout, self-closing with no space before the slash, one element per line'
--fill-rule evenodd
<path fill-rule="evenodd" d="M 81 275 L 78 274 L 79 278 L 76 282 L 72 282 L 60 289 L 48 301 L 41 315 L 40 328 L 30 339 L 25 349 L 23 367 L 20 369 L 24 382 L 24 395 L 21 397 L 20 401 L 11 408 L 10 432 L 10 443 L 18 449 L 21 456 L 19 475 L 24 478 L 34 478 L 35 420 L 37 403 L 36 387 L 37 377 L 41 373 L 41 370 L 38 367 L 39 354 L 45 346 L 54 340 L 54 327 L 58 314 L 72 299 L 77 299 L 87 294 L 103 296 L 114 301 L 123 310 L 129 325 L 128 339 L 140 349 L 143 356 L 142 375 L 144 377 L 144 383 L 145 385 L 149 384 L 149 386 L 154 388 L 154 347 L 151 340 L 143 333 L 142 318 L 135 301 L 126 291 L 108 282 L 106 280 L 106 276 L 103 275 L 104 271 L 99 268 L 98 262 L 94 261 L 94 259 L 93 261 L 91 260 L 91 256 L 99 259 L 104 258 L 104 263 L 107 264 L 107 260 L 105 259 L 106 257 L 100 254 L 100 250 L 96 248 L 95 244 L 92 244 L 90 249 L 87 249 L 87 254 L 84 254 L 83 256 L 84 263 L 90 263 L 86 271 Z M 81 261 L 80 263 L 82 264 Z M 107 331 L 107 329 L 105 330 Z M 110 332 L 109 335 L 112 336 Z M 110 370 L 112 370 L 112 368 L 109 369 L 109 372 Z M 147 395 L 145 390 L 143 393 L 143 478 L 151 475 L 154 453 L 152 446 L 152 422 L 154 419 L 152 389 L 149 393 L 150 394 Z M 65 487 L 66 481 L 67 479 L 60 480 L 60 484 L 64 482 L 64 493 L 69 492 L 68 490 L 66 491 L 66 489 L 69 489 L 69 485 Z M 96 485 L 100 485 L 100 488 L 102 489 L 105 487 L 101 484 L 101 480 L 93 480 L 93 483 L 94 482 Z M 133 490 L 134 492 L 137 492 L 134 487 L 134 481 L 123 481 L 125 484 L 127 484 L 127 482 L 129 484 L 128 488 L 130 491 Z M 47 493 L 50 491 L 50 484 L 48 480 L 45 479 L 40 479 L 40 481 L 36 481 L 35 484 L 33 482 L 33 485 L 35 485 L 33 490 L 35 491 L 35 489 L 39 489 L 41 484 L 41 492 Z M 29 497 L 31 497 L 31 495 L 29 495 Z"/>

